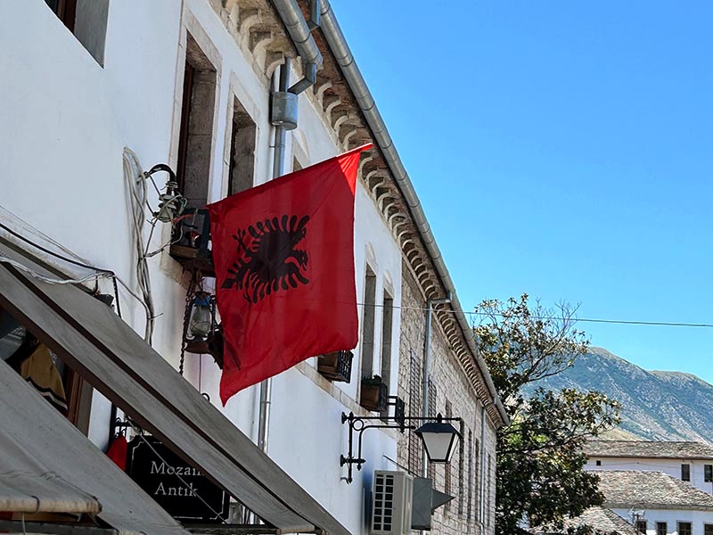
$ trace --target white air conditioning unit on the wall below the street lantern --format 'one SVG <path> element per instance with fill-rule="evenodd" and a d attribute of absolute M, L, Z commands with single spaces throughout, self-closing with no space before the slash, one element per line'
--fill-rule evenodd
<path fill-rule="evenodd" d="M 414 478 L 404 472 L 373 473 L 372 535 L 409 535 Z"/>

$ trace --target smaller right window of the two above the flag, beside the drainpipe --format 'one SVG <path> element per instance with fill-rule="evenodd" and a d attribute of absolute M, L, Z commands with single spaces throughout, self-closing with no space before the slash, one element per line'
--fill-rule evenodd
<path fill-rule="evenodd" d="M 228 157 L 228 195 L 252 187 L 255 173 L 255 122 L 237 98 L 233 103 L 230 156 Z M 295 163 L 297 160 L 295 160 Z M 295 169 L 296 170 L 296 169 Z"/>

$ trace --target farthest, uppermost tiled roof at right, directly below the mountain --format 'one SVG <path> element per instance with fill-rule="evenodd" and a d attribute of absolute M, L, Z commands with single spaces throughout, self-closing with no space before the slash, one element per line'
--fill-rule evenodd
<path fill-rule="evenodd" d="M 713 459 L 713 447 L 703 442 L 664 440 L 590 440 L 587 457 L 650 457 Z"/>

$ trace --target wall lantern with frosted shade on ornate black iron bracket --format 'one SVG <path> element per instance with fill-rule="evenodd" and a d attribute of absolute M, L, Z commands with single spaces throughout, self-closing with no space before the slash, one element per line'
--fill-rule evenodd
<path fill-rule="evenodd" d="M 398 429 L 406 432 L 406 429 L 414 431 L 423 441 L 426 455 L 431 463 L 448 463 L 455 451 L 455 442 L 461 434 L 449 422 L 460 422 L 461 418 L 444 418 L 440 414 L 433 417 L 422 416 L 356 416 L 354 413 L 341 413 L 341 423 L 349 425 L 349 452 L 347 457 L 340 456 L 340 465 L 348 465 L 348 476 L 345 481 L 354 481 L 352 477 L 352 466 L 356 465 L 356 470 L 361 470 L 366 459 L 362 457 L 362 437 L 367 429 Z M 370 422 L 374 422 L 371 424 Z M 407 424 L 407 422 L 426 422 L 420 427 Z M 358 433 L 358 443 L 356 457 L 354 455 L 354 432 Z"/>

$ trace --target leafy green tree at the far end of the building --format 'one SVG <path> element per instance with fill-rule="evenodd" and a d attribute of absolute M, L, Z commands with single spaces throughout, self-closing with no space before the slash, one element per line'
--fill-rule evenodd
<path fill-rule="evenodd" d="M 474 327 L 511 424 L 497 435 L 496 532 L 521 520 L 560 529 L 567 516 L 602 504 L 599 478 L 582 470 L 586 440 L 619 423 L 619 403 L 597 391 L 537 388 L 586 353 L 576 309 L 519 300 L 484 300 Z M 529 392 L 529 393 L 528 393 Z"/>

